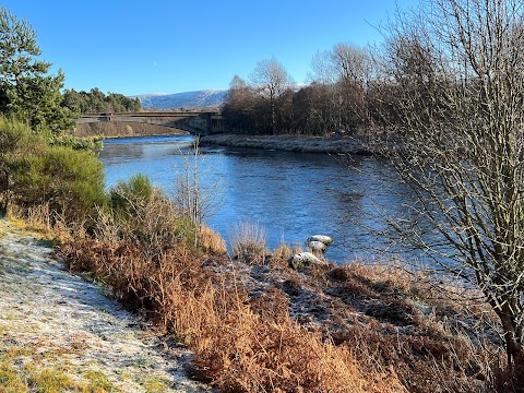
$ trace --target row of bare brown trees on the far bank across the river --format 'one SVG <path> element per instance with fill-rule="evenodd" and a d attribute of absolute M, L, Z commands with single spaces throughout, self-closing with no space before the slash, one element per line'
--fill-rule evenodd
<path fill-rule="evenodd" d="M 317 52 L 308 85 L 294 83 L 275 58 L 257 63 L 247 80 L 235 75 L 223 110 L 230 131 L 378 136 L 397 130 L 405 93 L 424 93 L 439 75 L 409 33 L 386 36 L 381 47 L 340 43 Z"/>

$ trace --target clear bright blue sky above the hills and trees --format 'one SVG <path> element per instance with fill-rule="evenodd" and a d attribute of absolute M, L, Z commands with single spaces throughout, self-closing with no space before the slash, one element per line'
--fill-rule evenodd
<path fill-rule="evenodd" d="M 227 88 L 275 58 L 299 83 L 337 43 L 380 43 L 417 0 L 3 0 L 37 33 L 66 87 L 124 95 Z"/>

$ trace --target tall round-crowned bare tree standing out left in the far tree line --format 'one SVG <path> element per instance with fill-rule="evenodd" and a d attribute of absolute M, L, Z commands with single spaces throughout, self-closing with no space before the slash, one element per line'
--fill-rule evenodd
<path fill-rule="evenodd" d="M 276 99 L 289 87 L 291 78 L 275 58 L 261 60 L 250 76 L 251 82 L 270 99 L 272 131 L 276 129 Z"/>

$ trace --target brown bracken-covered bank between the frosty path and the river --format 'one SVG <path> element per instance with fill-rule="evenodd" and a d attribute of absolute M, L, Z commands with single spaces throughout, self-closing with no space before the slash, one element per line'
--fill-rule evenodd
<path fill-rule="evenodd" d="M 133 209 L 60 254 L 188 345 L 192 374 L 219 391 L 512 389 L 501 382 L 510 379 L 495 318 L 473 289 L 388 263 L 297 272 L 284 246 L 230 259 L 204 227 L 189 239 L 169 202 Z"/>

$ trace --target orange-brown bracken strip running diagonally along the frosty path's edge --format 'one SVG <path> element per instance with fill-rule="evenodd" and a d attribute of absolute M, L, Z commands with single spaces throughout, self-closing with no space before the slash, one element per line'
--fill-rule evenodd
<path fill-rule="evenodd" d="M 390 370 L 362 370 L 352 352 L 320 333 L 257 313 L 235 282 L 206 272 L 179 247 L 144 261 L 123 245 L 63 247 L 71 269 L 90 270 L 195 353 L 194 374 L 225 392 L 402 392 Z M 235 289 L 236 288 L 236 289 Z"/>

